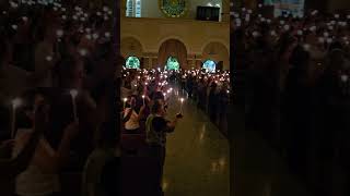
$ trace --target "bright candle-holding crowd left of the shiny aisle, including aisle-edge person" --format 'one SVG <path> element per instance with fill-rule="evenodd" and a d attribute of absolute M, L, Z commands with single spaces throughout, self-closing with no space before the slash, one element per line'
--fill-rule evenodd
<path fill-rule="evenodd" d="M 122 70 L 121 96 L 124 105 L 121 120 L 124 122 L 121 149 L 140 155 L 143 150 L 145 156 L 153 158 L 158 171 L 153 173 L 158 181 L 159 192 L 162 195 L 163 168 L 166 156 L 166 136 L 175 131 L 177 122 L 183 118 L 182 109 L 175 114 L 174 120 L 168 120 L 168 100 L 174 95 L 184 101 L 176 88 L 174 71 L 158 70 Z M 176 90 L 177 89 L 177 90 Z M 177 100 L 176 100 L 177 101 Z M 131 135 L 131 137 L 130 137 Z M 143 135 L 143 137 L 139 137 Z M 132 138 L 135 136 L 135 138 Z M 144 145 L 126 145 L 129 139 L 139 139 Z M 143 148 L 143 149 L 142 149 Z M 142 152 L 141 152 L 142 154 Z"/>

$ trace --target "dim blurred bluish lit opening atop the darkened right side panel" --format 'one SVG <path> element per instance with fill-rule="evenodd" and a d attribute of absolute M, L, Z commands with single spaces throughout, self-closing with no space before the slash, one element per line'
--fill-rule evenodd
<path fill-rule="evenodd" d="M 273 15 L 276 17 L 292 14 L 294 16 L 304 16 L 305 0 L 264 0 L 265 5 L 273 5 Z"/>

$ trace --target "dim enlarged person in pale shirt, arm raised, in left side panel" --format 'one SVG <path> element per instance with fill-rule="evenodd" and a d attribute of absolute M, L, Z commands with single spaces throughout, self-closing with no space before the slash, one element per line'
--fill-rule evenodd
<path fill-rule="evenodd" d="M 32 133 L 31 130 L 36 126 L 45 127 L 45 137 L 40 137 L 28 168 L 16 176 L 15 193 L 19 196 L 55 195 L 60 192 L 58 171 L 67 162 L 71 140 L 78 135 L 79 125 L 77 122 L 70 123 L 63 131 L 58 149 L 54 149 L 48 140 L 50 134 L 50 103 L 47 97 L 43 93 L 33 91 L 27 95 L 27 102 L 30 105 L 25 107 L 25 113 L 33 121 L 33 128 L 18 132 L 13 156 L 16 156 L 23 149 L 23 144 L 26 143 Z M 33 107 L 31 107 L 31 102 L 34 102 Z M 38 102 L 45 102 L 45 119 L 39 122 L 33 119 Z"/>

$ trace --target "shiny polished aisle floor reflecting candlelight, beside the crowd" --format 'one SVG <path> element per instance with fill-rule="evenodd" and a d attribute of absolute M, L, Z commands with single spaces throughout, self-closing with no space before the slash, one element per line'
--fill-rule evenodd
<path fill-rule="evenodd" d="M 179 108 L 178 97 L 172 94 L 167 118 L 173 120 Z M 167 136 L 165 196 L 229 196 L 228 139 L 191 100 L 185 100 L 183 114 L 175 132 Z"/>

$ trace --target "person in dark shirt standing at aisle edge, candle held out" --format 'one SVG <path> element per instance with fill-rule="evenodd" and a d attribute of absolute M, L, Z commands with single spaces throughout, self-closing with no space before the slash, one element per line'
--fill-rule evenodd
<path fill-rule="evenodd" d="M 164 100 L 154 100 L 152 106 L 152 113 L 145 121 L 147 143 L 150 148 L 150 156 L 155 158 L 159 167 L 159 185 L 162 193 L 161 183 L 163 176 L 163 167 L 165 162 L 166 152 L 166 134 L 175 131 L 177 122 L 183 119 L 183 114 L 178 113 L 175 120 L 168 121 L 165 119 L 166 110 Z"/>

